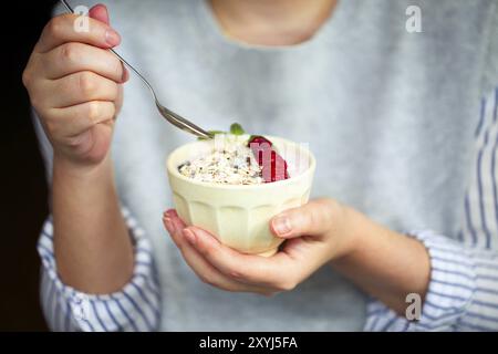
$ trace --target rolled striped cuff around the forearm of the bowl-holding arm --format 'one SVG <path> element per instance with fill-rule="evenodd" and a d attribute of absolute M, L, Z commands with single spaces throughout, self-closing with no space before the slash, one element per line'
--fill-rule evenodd
<path fill-rule="evenodd" d="M 432 231 L 408 236 L 419 240 L 430 258 L 430 281 L 421 316 L 408 320 L 373 300 L 367 305 L 365 331 L 452 331 L 471 303 L 476 272 L 465 247 Z"/>

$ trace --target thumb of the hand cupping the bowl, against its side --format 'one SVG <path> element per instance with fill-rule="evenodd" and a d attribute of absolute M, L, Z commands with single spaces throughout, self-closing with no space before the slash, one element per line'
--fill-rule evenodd
<path fill-rule="evenodd" d="M 333 205 L 328 200 L 314 200 L 283 211 L 270 221 L 270 229 L 281 238 L 321 236 L 332 226 Z"/>

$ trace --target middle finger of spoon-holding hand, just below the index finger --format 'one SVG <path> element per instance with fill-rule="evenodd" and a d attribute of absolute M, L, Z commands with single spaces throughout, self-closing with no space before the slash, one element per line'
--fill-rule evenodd
<path fill-rule="evenodd" d="M 65 43 L 42 58 L 44 76 L 59 80 L 66 75 L 91 71 L 116 83 L 124 83 L 127 75 L 121 61 L 110 51 L 83 43 Z"/>

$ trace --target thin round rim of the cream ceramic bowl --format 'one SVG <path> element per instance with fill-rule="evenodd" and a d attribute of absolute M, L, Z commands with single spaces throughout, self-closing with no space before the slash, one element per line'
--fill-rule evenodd
<path fill-rule="evenodd" d="M 294 143 L 292 140 L 289 140 L 289 139 L 282 138 L 282 137 L 278 137 L 278 136 L 266 135 L 264 137 L 267 137 L 270 140 L 277 140 L 278 143 L 281 142 L 283 144 L 298 145 L 298 143 Z M 186 148 L 187 146 L 190 146 L 190 145 L 197 145 L 197 144 L 206 144 L 206 140 L 197 140 L 197 142 L 191 142 L 191 143 L 180 145 L 168 155 L 167 162 L 166 162 L 166 167 L 167 167 L 167 171 L 169 175 L 172 175 L 180 180 L 184 180 L 188 184 L 203 186 L 203 187 L 210 187 L 210 188 L 215 188 L 215 189 L 229 189 L 229 190 L 250 190 L 250 189 L 266 189 L 266 188 L 283 187 L 286 185 L 293 184 L 299 179 L 305 178 L 309 174 L 314 173 L 315 167 L 317 167 L 317 159 L 315 159 L 313 153 L 310 149 L 303 148 L 302 146 L 300 146 L 299 148 L 301 150 L 305 152 L 305 154 L 308 154 L 308 157 L 310 159 L 310 165 L 300 175 L 298 175 L 295 177 L 291 177 L 289 179 L 272 181 L 272 183 L 268 183 L 268 184 L 267 183 L 259 184 L 259 185 L 226 185 L 226 184 L 216 184 L 216 183 L 210 183 L 210 181 L 194 180 L 191 178 L 185 177 L 184 175 L 181 175 L 178 171 L 178 166 L 174 166 L 173 157 L 174 157 L 175 153 L 177 153 L 179 149 Z"/>

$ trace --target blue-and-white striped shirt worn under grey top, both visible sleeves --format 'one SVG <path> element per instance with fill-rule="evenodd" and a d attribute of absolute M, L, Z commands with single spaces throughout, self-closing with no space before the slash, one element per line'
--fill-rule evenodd
<path fill-rule="evenodd" d="M 419 321 L 398 316 L 378 301 L 369 304 L 366 331 L 498 331 L 498 87 L 483 97 L 476 127 L 473 179 L 465 196 L 459 241 L 430 230 L 409 232 L 427 248 L 430 282 Z M 91 295 L 62 283 L 49 218 L 38 251 L 43 262 L 41 300 L 54 331 L 154 331 L 162 300 L 151 244 L 123 210 L 135 244 L 135 270 L 124 289 Z"/>

